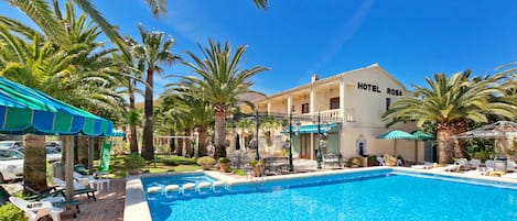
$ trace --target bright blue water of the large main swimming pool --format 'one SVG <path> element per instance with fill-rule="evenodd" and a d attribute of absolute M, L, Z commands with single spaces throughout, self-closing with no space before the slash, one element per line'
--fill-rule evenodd
<path fill-rule="evenodd" d="M 379 170 L 148 196 L 148 202 L 154 221 L 517 220 L 517 186 L 488 184 Z"/>

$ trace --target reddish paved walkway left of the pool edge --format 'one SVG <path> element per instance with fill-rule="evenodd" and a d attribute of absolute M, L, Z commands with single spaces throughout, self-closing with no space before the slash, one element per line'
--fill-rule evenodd
<path fill-rule="evenodd" d="M 73 218 L 71 211 L 62 213 L 63 221 L 122 221 L 126 200 L 126 178 L 111 179 L 110 189 L 96 192 L 97 201 L 82 199 L 80 213 Z"/>

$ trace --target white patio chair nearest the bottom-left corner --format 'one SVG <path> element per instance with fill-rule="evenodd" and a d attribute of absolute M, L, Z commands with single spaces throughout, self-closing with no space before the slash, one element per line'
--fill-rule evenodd
<path fill-rule="evenodd" d="M 29 218 L 29 221 L 36 221 L 47 216 L 50 216 L 54 221 L 61 221 L 63 209 L 53 207 L 50 201 L 30 202 L 18 197 L 9 197 L 9 201 L 23 210 Z"/>

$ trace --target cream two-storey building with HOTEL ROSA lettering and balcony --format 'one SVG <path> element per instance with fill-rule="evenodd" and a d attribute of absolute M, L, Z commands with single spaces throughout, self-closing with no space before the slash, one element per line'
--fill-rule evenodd
<path fill-rule="evenodd" d="M 260 113 L 292 113 L 293 124 L 301 120 L 299 135 L 292 135 L 293 152 L 300 158 L 315 159 L 317 150 L 317 115 L 320 130 L 327 125 L 326 147 L 322 153 L 341 154 L 344 158 L 364 155 L 396 154 L 409 161 L 430 157 L 432 153 L 421 141 L 378 140 L 377 135 L 394 129 L 411 132 L 414 123 L 398 123 L 386 128 L 383 113 L 397 98 L 408 95 L 400 81 L 395 79 L 378 64 L 348 70 L 327 78 L 312 76 L 309 84 L 291 88 L 265 98 L 252 100 Z M 254 110 L 241 107 L 245 113 Z M 312 119 L 306 121 L 303 119 Z M 294 128 L 294 126 L 293 126 Z M 259 139 L 259 148 L 270 154 L 271 150 L 281 148 L 281 131 L 274 135 L 273 146 L 267 146 L 263 135 Z M 286 129 L 283 131 L 286 134 Z M 234 142 L 233 142 L 234 143 Z M 271 142 L 269 142 L 271 143 Z M 363 146 L 360 150 L 359 146 Z M 424 153 L 426 152 L 426 153 Z"/>

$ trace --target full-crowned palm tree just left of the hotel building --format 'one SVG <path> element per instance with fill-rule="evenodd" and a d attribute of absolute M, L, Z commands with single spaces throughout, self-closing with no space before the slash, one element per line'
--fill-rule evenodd
<path fill-rule="evenodd" d="M 191 81 L 203 99 L 212 104 L 215 115 L 215 157 L 226 156 L 226 112 L 231 103 L 237 102 L 237 96 L 250 90 L 251 77 L 268 70 L 268 68 L 254 66 L 249 69 L 240 69 L 246 46 L 240 45 L 235 53 L 228 42 L 224 46 L 212 40 L 208 40 L 208 47 L 197 45 L 203 54 L 203 58 L 197 57 L 192 52 L 186 54 L 193 63 L 184 64 L 193 69 L 197 76 L 187 76 L 185 79 Z"/>

